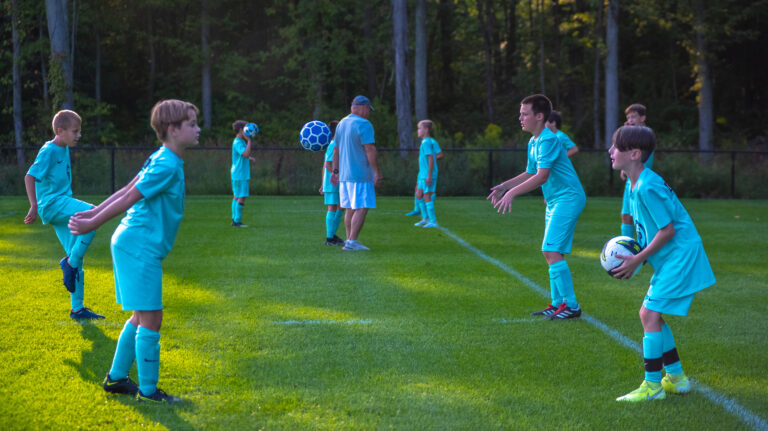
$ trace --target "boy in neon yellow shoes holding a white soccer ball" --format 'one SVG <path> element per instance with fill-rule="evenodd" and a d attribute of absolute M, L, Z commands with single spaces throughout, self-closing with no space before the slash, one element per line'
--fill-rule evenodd
<path fill-rule="evenodd" d="M 612 168 L 623 170 L 629 177 L 629 207 L 643 247 L 635 256 L 617 256 L 624 263 L 611 275 L 628 279 L 643 262 L 653 266 L 651 285 L 640 307 L 645 380 L 617 401 L 657 400 L 665 398 L 666 392 L 690 391 L 663 315 L 687 315 L 696 292 L 715 284 L 701 237 L 688 212 L 664 180 L 644 166 L 655 147 L 651 129 L 624 126 L 613 134 L 608 150 Z M 662 367 L 666 371 L 663 379 Z"/>

